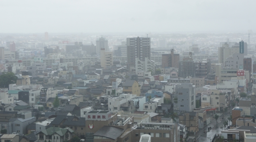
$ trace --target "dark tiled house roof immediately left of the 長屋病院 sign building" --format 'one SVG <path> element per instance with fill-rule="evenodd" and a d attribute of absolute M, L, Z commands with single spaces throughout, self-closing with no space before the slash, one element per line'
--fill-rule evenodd
<path fill-rule="evenodd" d="M 51 122 L 51 124 L 58 125 L 64 120 L 63 125 L 66 125 L 66 126 L 85 126 L 85 118 L 76 117 L 76 119 L 78 119 L 78 121 L 72 121 L 75 117 L 76 116 L 57 116 Z"/>

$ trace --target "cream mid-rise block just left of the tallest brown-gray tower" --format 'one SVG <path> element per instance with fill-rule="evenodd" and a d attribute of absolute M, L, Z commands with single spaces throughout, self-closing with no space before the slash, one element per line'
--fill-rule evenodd
<path fill-rule="evenodd" d="M 100 65 L 102 68 L 113 66 L 113 52 L 105 51 L 105 48 L 100 49 Z"/>

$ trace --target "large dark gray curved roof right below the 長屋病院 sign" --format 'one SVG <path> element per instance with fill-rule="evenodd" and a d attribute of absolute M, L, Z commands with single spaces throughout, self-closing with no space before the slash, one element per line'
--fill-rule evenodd
<path fill-rule="evenodd" d="M 104 136 L 106 138 L 116 140 L 125 130 L 118 127 L 113 126 L 103 126 L 100 130 L 98 130 L 93 135 L 96 136 Z"/>

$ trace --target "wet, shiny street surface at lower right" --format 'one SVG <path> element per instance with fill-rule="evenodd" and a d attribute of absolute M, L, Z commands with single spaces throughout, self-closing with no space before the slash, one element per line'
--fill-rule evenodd
<path fill-rule="evenodd" d="M 208 124 L 206 127 L 204 127 L 204 129 L 200 129 L 195 135 L 190 134 L 190 136 L 195 136 L 197 142 L 210 142 L 210 139 L 208 138 L 212 139 L 216 133 L 221 133 L 221 130 L 222 130 L 220 126 L 224 122 L 224 119 L 222 119 L 223 113 L 217 113 L 217 114 L 219 115 L 217 124 L 216 124 L 216 120 L 211 116 L 211 114 L 207 114 L 207 118 L 210 118 L 211 123 Z M 225 114 L 224 116 L 226 118 L 226 121 L 228 121 L 227 118 L 230 116 L 230 114 Z M 230 124 L 231 124 L 231 121 L 230 121 Z M 207 131 L 208 127 L 211 127 L 210 131 Z M 204 130 L 206 131 L 205 133 L 204 133 Z"/>

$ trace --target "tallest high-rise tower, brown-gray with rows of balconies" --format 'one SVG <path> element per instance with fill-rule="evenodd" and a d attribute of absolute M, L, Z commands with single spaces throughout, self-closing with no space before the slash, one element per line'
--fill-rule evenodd
<path fill-rule="evenodd" d="M 150 37 L 127 38 L 127 69 L 135 71 L 135 58 L 145 61 L 150 58 Z"/>

